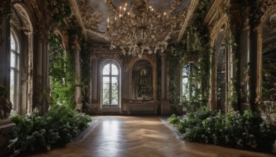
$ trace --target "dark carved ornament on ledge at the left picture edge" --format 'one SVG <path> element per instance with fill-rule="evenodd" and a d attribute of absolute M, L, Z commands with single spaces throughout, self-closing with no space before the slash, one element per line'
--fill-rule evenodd
<path fill-rule="evenodd" d="M 7 88 L 0 86 L 0 119 L 8 118 L 12 110 L 12 103 L 8 99 Z"/>

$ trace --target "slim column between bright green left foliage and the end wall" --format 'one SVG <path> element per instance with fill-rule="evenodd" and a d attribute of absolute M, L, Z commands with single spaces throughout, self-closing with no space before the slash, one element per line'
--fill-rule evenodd
<path fill-rule="evenodd" d="M 79 51 L 81 47 L 77 41 L 77 36 L 74 36 L 73 45 L 71 47 L 75 54 L 75 70 L 76 70 L 76 89 L 75 89 L 75 102 L 77 103 L 76 109 L 82 112 L 82 96 L 81 96 L 81 62 L 79 58 Z"/>

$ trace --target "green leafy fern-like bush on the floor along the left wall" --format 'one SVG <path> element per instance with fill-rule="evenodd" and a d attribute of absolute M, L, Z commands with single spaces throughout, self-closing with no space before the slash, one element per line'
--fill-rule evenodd
<path fill-rule="evenodd" d="M 88 127 L 90 116 L 80 114 L 68 107 L 55 105 L 44 116 L 32 112 L 26 116 L 12 116 L 16 124 L 10 138 L 18 138 L 17 149 L 50 150 L 55 145 L 66 145 L 72 138 Z"/>

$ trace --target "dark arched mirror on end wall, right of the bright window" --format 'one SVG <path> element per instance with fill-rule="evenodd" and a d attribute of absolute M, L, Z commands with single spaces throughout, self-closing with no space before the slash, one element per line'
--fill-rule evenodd
<path fill-rule="evenodd" d="M 141 59 L 132 66 L 132 99 L 152 100 L 152 65 Z"/>

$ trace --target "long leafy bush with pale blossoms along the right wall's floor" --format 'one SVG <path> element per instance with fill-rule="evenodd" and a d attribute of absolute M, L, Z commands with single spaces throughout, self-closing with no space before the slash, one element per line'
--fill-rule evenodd
<path fill-rule="evenodd" d="M 172 115 L 169 119 L 181 119 Z M 184 133 L 184 139 L 215 145 L 232 147 L 256 148 L 264 143 L 273 144 L 276 139 L 275 123 L 262 121 L 260 115 L 251 110 L 244 114 L 239 112 L 210 112 L 201 107 L 197 112 L 189 113 L 182 121 L 175 123 L 179 132 Z"/>

